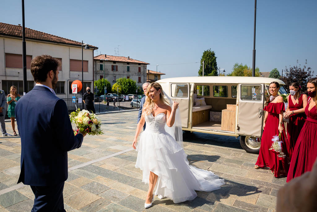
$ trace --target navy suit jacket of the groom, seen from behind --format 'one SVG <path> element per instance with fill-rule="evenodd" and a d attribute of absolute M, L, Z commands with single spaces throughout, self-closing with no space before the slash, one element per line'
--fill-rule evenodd
<path fill-rule="evenodd" d="M 67 151 L 81 147 L 83 135 L 74 136 L 64 100 L 48 88 L 34 86 L 16 104 L 21 137 L 21 173 L 25 185 L 56 185 L 68 178 Z"/>

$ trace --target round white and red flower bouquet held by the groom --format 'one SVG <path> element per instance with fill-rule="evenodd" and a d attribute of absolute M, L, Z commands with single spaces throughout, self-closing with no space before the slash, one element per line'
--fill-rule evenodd
<path fill-rule="evenodd" d="M 79 131 L 87 132 L 88 135 L 101 135 L 101 120 L 96 114 L 89 113 L 87 110 L 80 110 L 79 108 L 70 113 L 70 121 L 76 125 L 77 130 L 74 130 L 74 135 Z"/>

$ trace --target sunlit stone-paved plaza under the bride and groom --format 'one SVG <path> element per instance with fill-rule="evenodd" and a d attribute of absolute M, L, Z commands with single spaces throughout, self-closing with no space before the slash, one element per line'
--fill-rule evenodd
<path fill-rule="evenodd" d="M 81 148 L 68 153 L 64 187 L 67 211 L 143 211 L 148 185 L 134 167 L 132 150 L 137 111 L 99 115 L 104 134 L 86 136 Z M 6 122 L 12 134 L 10 122 Z M 45 140 L 43 140 L 45 142 Z M 274 211 L 277 190 L 286 178 L 254 169 L 257 155 L 246 153 L 235 137 L 184 133 L 184 149 L 196 167 L 208 169 L 226 184 L 220 190 L 197 192 L 193 201 L 174 204 L 155 197 L 146 211 Z M 30 211 L 34 195 L 16 184 L 20 173 L 19 137 L 0 137 L 0 212 Z"/>

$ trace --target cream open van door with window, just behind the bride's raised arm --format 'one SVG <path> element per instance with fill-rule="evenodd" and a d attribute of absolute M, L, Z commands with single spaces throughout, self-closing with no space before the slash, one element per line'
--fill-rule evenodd
<path fill-rule="evenodd" d="M 173 101 L 179 102 L 178 108 L 182 120 L 182 127 L 188 128 L 188 113 L 189 113 L 189 83 L 170 83 L 169 96 Z"/>

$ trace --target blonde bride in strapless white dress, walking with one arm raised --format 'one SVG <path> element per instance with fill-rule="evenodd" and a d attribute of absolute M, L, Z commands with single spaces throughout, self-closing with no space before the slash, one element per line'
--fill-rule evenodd
<path fill-rule="evenodd" d="M 179 203 L 193 200 L 197 196 L 195 190 L 213 191 L 224 185 L 224 180 L 214 173 L 189 165 L 187 154 L 179 143 L 182 134 L 176 136 L 176 141 L 174 133 L 166 132 L 175 127 L 178 108 L 178 102 L 169 106 L 168 100 L 159 83 L 147 87 L 146 101 L 133 140 L 133 148 L 138 151 L 135 167 L 143 171 L 142 181 L 149 184 L 145 208 L 152 206 L 154 195 Z M 145 122 L 146 129 L 136 147 Z"/>

